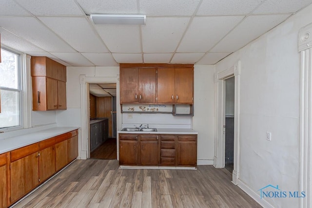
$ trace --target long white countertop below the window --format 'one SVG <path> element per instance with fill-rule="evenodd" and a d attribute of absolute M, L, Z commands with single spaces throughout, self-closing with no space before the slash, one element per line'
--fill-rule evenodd
<path fill-rule="evenodd" d="M 76 129 L 78 129 L 78 127 L 53 127 L 46 130 L 40 130 L 38 132 L 0 139 L 0 153 L 25 147 L 27 145 L 58 136 L 66 132 L 71 132 Z"/>

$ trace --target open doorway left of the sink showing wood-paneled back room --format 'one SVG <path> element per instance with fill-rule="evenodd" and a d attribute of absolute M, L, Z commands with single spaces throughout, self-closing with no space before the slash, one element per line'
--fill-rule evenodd
<path fill-rule="evenodd" d="M 117 84 L 89 84 L 91 159 L 117 159 Z"/>

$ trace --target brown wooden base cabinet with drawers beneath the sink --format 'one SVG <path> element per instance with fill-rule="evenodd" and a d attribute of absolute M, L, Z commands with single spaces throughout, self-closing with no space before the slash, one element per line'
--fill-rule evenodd
<path fill-rule="evenodd" d="M 197 135 L 119 134 L 119 165 L 197 165 Z"/>

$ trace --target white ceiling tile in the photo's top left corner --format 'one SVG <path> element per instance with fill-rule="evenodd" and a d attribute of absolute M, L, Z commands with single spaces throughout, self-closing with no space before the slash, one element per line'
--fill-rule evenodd
<path fill-rule="evenodd" d="M 1 15 L 31 16 L 29 12 L 13 0 L 1 0 L 0 16 Z"/>

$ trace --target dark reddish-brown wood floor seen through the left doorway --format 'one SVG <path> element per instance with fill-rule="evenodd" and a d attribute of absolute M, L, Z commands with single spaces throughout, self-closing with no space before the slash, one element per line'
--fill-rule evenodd
<path fill-rule="evenodd" d="M 101 146 L 90 153 L 92 159 L 117 159 L 116 138 L 108 138 Z"/>

